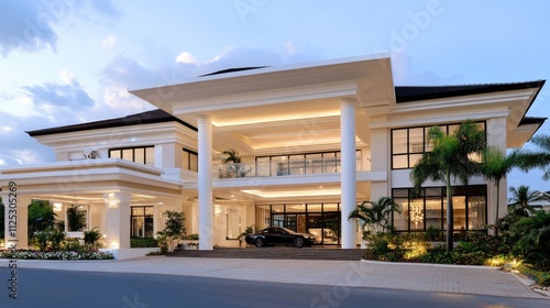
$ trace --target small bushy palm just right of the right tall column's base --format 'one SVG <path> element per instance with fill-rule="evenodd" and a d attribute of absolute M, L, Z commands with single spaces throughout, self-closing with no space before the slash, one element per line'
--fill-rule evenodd
<path fill-rule="evenodd" d="M 392 230 L 392 212 L 399 212 L 399 206 L 389 197 L 382 197 L 378 201 L 363 201 L 348 217 L 358 218 L 367 228 L 363 239 L 373 232 L 386 232 Z"/>

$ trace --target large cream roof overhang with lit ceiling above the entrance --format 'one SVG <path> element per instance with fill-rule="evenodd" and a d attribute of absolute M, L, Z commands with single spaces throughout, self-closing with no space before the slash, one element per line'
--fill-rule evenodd
<path fill-rule="evenodd" d="M 307 140 L 339 145 L 342 99 L 354 99 L 358 109 L 395 105 L 387 55 L 240 70 L 130 92 L 193 125 L 212 117 L 215 147 L 255 154 L 297 144 L 307 151 Z M 363 113 L 358 111 L 358 125 L 367 121 Z M 367 144 L 366 130 L 356 131 L 358 144 Z"/>

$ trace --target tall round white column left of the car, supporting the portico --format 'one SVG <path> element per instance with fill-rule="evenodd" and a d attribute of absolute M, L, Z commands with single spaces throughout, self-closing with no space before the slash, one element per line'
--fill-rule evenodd
<path fill-rule="evenodd" d="M 212 118 L 198 119 L 199 136 L 199 249 L 212 250 Z"/>

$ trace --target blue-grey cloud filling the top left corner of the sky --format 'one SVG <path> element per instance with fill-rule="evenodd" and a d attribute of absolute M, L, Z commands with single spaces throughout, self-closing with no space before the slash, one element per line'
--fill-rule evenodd
<path fill-rule="evenodd" d="M 47 46 L 55 50 L 57 34 L 52 29 L 53 21 L 53 14 L 38 1 L 2 2 L 0 54 L 6 57 L 12 51 L 35 52 Z"/>

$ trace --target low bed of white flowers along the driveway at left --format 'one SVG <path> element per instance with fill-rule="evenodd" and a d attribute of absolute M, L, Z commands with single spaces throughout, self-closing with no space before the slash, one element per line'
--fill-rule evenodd
<path fill-rule="evenodd" d="M 114 256 L 110 252 L 74 252 L 74 251 L 4 251 L 0 252 L 0 258 L 19 260 L 112 260 Z"/>

